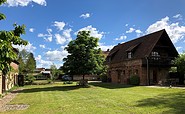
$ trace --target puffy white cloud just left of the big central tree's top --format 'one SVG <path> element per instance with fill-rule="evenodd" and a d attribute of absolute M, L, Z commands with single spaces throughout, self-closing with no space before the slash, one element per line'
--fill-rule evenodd
<path fill-rule="evenodd" d="M 72 29 L 66 29 L 63 31 L 62 35 L 55 34 L 57 44 L 64 44 L 72 40 L 71 38 L 71 31 Z"/>

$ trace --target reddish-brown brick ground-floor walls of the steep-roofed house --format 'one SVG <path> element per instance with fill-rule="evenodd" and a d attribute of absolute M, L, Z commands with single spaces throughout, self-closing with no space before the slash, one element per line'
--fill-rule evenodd
<path fill-rule="evenodd" d="M 154 71 L 157 77 L 155 82 L 153 82 Z M 168 72 L 169 68 L 149 66 L 148 76 L 150 77 L 150 84 L 158 84 L 159 81 L 165 80 L 168 76 Z M 108 76 L 111 77 L 112 83 L 129 84 L 128 79 L 132 74 L 138 74 L 140 77 L 140 85 L 148 85 L 147 68 L 142 66 L 141 59 L 109 64 Z"/>

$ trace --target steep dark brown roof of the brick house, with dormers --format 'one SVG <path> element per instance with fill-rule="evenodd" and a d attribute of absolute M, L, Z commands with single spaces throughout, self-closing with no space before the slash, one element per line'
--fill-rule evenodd
<path fill-rule="evenodd" d="M 110 51 L 106 60 L 109 63 L 118 63 L 132 59 L 143 59 L 149 57 L 157 46 L 168 47 L 168 56 L 176 57 L 178 55 L 178 52 L 168 34 L 163 29 L 129 42 L 118 44 Z M 131 57 L 128 57 L 128 54 L 131 54 Z"/>

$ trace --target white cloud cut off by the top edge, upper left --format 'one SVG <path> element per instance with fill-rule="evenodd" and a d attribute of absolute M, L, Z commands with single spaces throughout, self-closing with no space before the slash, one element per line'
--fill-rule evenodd
<path fill-rule="evenodd" d="M 46 6 L 45 0 L 7 0 L 8 6 L 28 6 L 30 3 L 36 3 L 42 6 Z"/>

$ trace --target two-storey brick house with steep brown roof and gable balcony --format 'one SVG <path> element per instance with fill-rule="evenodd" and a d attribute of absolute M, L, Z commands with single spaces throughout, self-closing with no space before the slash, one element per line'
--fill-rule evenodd
<path fill-rule="evenodd" d="M 115 46 L 106 58 L 108 78 L 112 83 L 129 84 L 129 77 L 137 74 L 140 85 L 158 84 L 168 77 L 177 56 L 163 29 Z"/>

